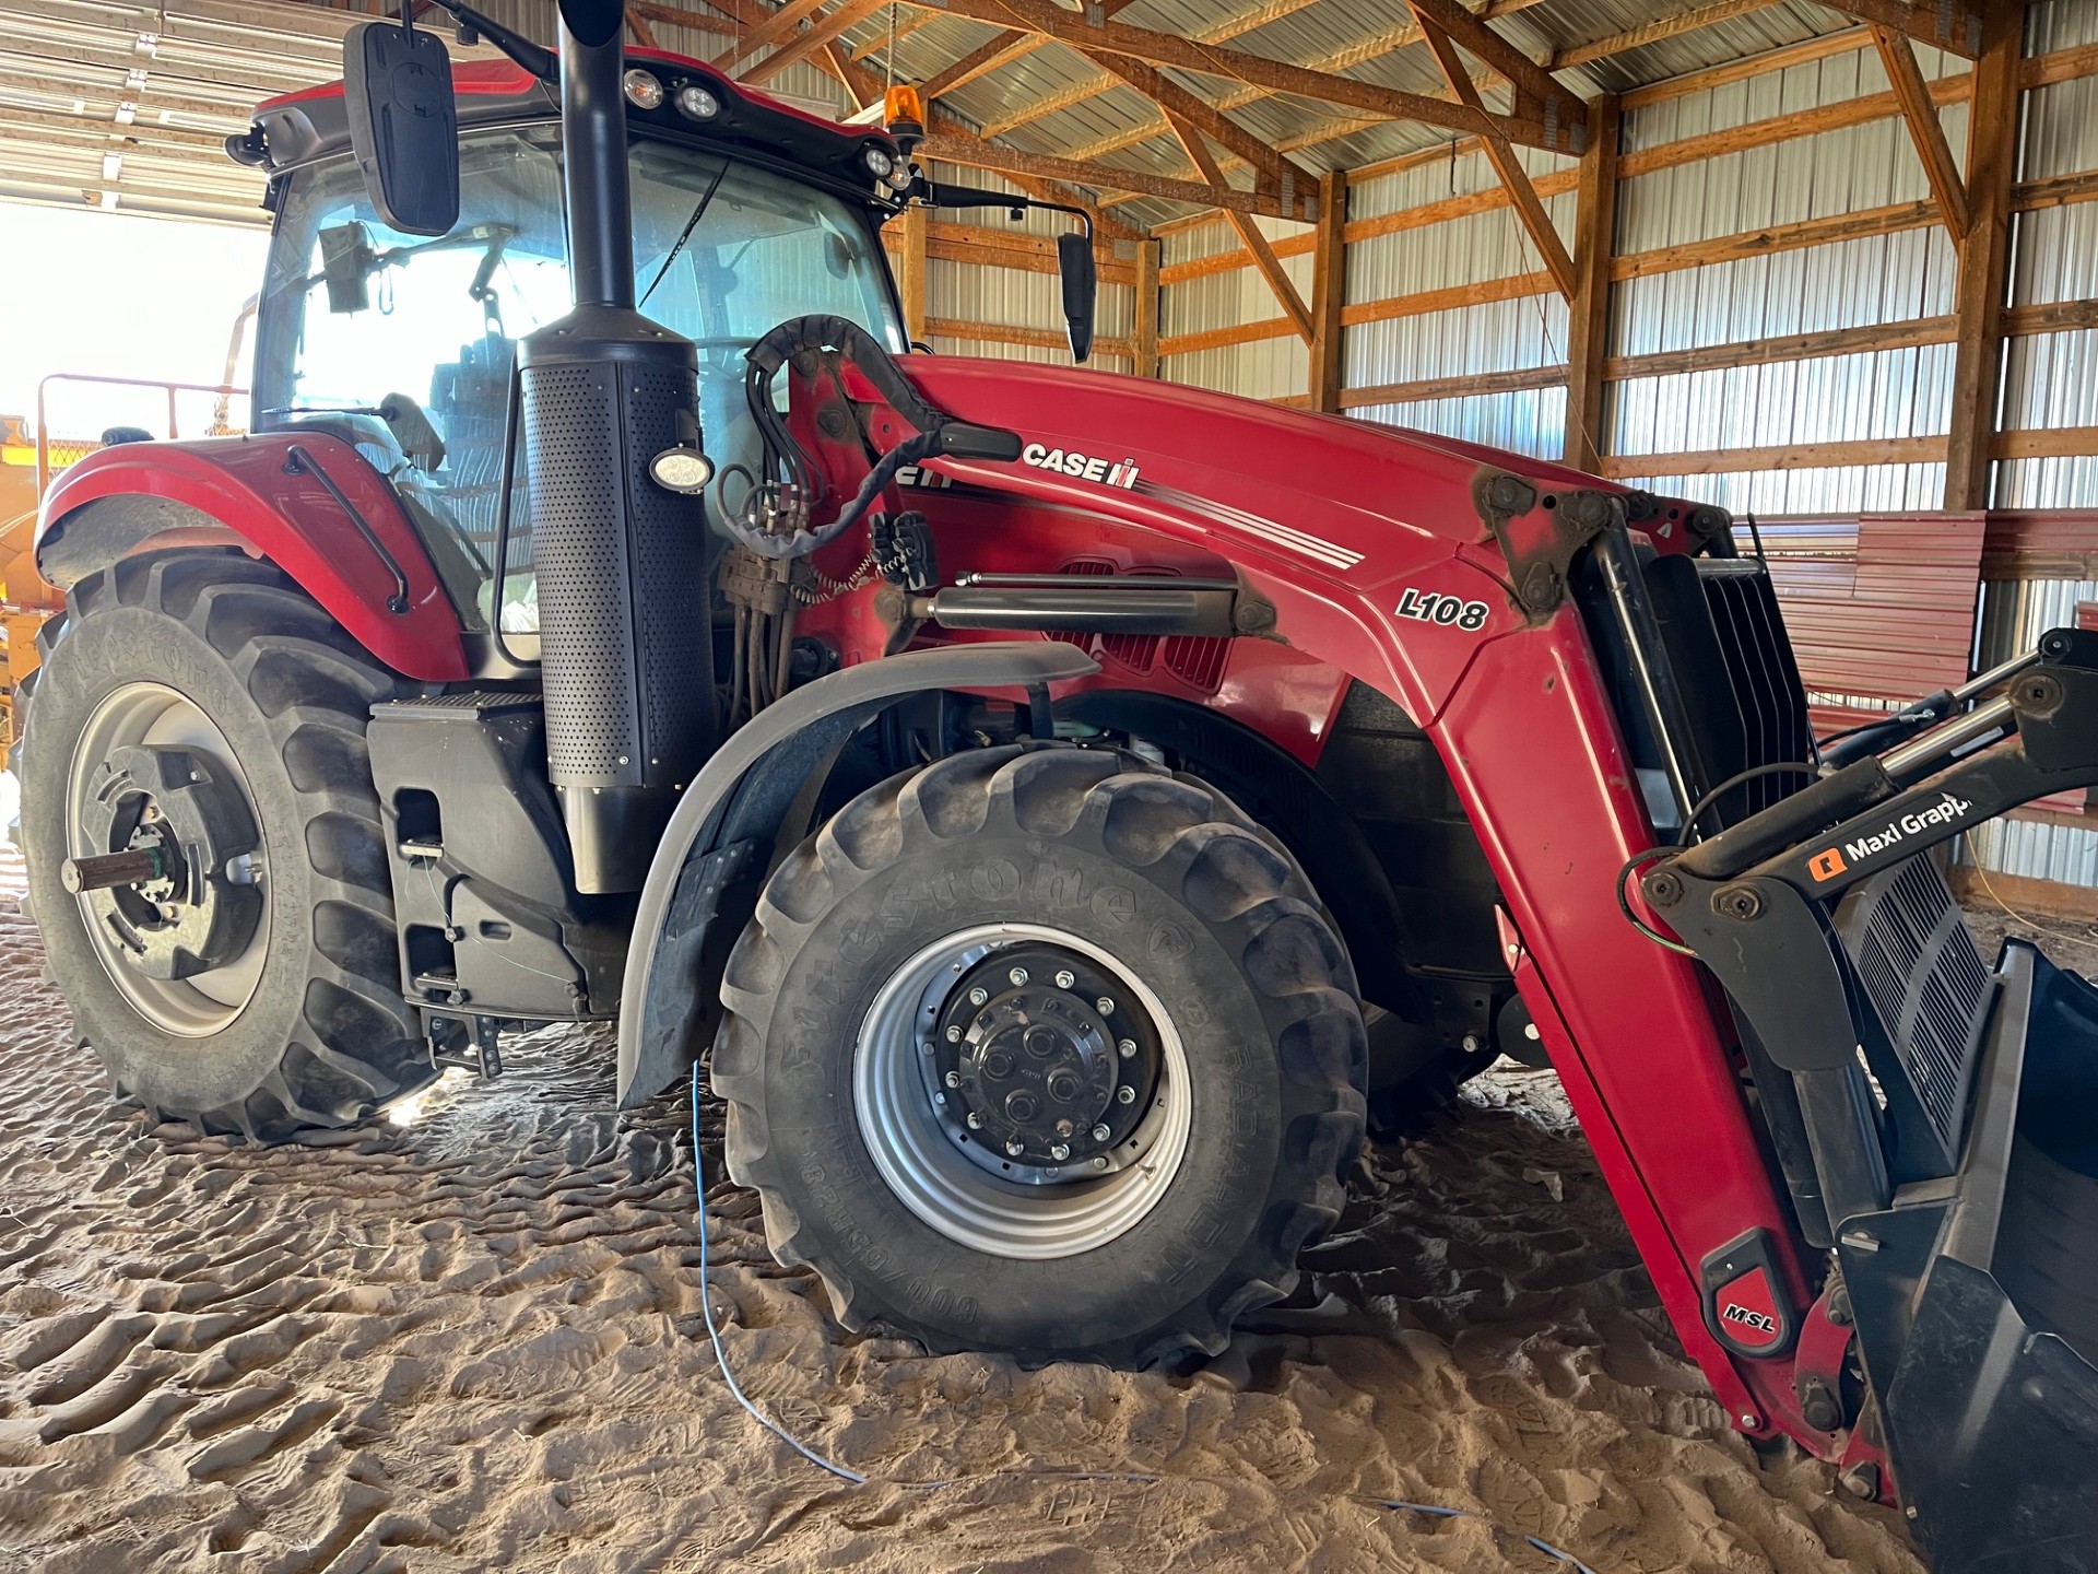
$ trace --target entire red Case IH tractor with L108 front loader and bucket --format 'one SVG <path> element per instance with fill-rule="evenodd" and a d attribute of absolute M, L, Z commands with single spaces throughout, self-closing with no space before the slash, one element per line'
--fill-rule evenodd
<path fill-rule="evenodd" d="M 1743 1431 L 2098 1566 L 2098 993 L 1932 858 L 2098 783 L 2098 636 L 1817 747 L 1722 510 L 913 353 L 881 222 L 1026 199 L 447 8 L 510 63 L 371 23 L 231 145 L 254 432 L 44 499 L 23 842 L 124 1093 L 277 1140 L 617 1018 L 848 1326 L 1146 1364 L 1506 1051 Z"/>

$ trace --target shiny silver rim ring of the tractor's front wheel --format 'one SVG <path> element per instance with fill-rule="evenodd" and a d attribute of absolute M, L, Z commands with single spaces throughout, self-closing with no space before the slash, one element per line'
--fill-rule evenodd
<path fill-rule="evenodd" d="M 934 1108 L 921 1066 L 923 1024 L 938 1016 L 959 974 L 1022 942 L 1066 946 L 1112 974 L 1158 1035 L 1156 1098 L 1127 1144 L 1131 1161 L 1114 1173 L 1072 1167 L 1068 1173 L 1032 1171 L 1026 1182 L 1003 1179 L 965 1156 L 965 1135 Z M 852 1096 L 875 1169 L 904 1207 L 948 1240 L 1024 1261 L 1076 1257 L 1129 1234 L 1171 1190 L 1194 1127 L 1187 1049 L 1158 995 L 1091 940 L 1041 923 L 959 930 L 898 967 L 860 1022 Z"/>

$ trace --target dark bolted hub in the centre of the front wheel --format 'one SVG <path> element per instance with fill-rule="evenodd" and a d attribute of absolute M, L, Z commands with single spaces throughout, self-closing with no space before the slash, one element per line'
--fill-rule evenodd
<path fill-rule="evenodd" d="M 1064 946 L 992 951 L 934 1014 L 929 1091 L 976 1163 L 1053 1182 L 1120 1169 L 1158 1104 L 1158 1030 L 1106 970 Z"/>

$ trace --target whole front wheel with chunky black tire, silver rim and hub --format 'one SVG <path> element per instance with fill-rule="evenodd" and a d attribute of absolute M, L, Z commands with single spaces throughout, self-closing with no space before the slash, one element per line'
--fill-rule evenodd
<path fill-rule="evenodd" d="M 774 873 L 722 999 L 772 1253 L 934 1349 L 1215 1354 L 1362 1142 L 1355 978 L 1303 873 L 1120 751 L 869 789 Z"/>

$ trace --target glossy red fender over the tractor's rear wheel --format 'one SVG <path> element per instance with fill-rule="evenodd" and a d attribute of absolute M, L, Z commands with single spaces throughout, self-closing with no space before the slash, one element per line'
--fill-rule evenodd
<path fill-rule="evenodd" d="M 392 569 L 321 476 L 290 460 L 294 447 L 325 470 L 401 565 L 407 577 L 405 611 L 388 607 L 397 592 Z M 185 504 L 243 537 L 394 672 L 430 682 L 470 676 L 459 615 L 401 499 L 340 437 L 308 430 L 97 449 L 67 466 L 44 495 L 36 529 L 38 565 L 82 508 L 126 495 Z"/>

